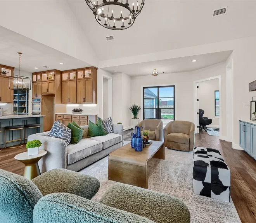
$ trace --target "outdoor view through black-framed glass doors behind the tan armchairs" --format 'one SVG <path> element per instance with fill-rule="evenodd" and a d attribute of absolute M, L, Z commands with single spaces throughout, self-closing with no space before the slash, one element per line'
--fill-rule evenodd
<path fill-rule="evenodd" d="M 143 119 L 175 120 L 175 86 L 143 88 Z"/>

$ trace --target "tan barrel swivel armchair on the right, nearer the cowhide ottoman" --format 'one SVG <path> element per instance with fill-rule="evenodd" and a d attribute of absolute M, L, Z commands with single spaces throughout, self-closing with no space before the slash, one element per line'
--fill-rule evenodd
<path fill-rule="evenodd" d="M 164 127 L 164 146 L 169 149 L 192 151 L 195 142 L 195 124 L 171 121 Z"/>

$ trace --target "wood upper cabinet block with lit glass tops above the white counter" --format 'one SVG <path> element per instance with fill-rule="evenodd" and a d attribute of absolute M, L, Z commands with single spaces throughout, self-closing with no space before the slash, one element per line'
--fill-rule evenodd
<path fill-rule="evenodd" d="M 76 88 L 71 86 L 76 82 Z M 71 94 L 75 90 L 76 96 Z M 62 104 L 97 104 L 97 68 L 62 71 Z"/>

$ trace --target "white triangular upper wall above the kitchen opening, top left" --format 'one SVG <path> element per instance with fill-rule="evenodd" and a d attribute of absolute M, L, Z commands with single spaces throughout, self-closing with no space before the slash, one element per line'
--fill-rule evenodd
<path fill-rule="evenodd" d="M 0 1 L 0 9 L 0 26 L 92 66 L 99 66 L 86 31 L 80 26 L 67 1 Z"/>

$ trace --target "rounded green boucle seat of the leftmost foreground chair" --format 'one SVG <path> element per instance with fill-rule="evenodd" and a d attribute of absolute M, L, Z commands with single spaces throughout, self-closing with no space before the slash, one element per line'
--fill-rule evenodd
<path fill-rule="evenodd" d="M 100 182 L 95 177 L 66 169 L 47 171 L 31 181 L 43 196 L 63 192 L 92 199 L 100 189 Z"/>

